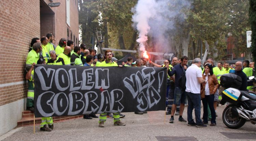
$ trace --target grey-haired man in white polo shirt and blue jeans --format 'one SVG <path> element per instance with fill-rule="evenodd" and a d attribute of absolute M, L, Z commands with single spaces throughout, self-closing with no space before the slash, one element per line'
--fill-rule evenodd
<path fill-rule="evenodd" d="M 206 83 L 202 78 L 202 61 L 200 58 L 193 60 L 193 64 L 186 71 L 186 92 L 187 92 L 187 120 L 188 126 L 206 127 L 200 119 L 201 115 L 201 95 L 200 83 Z M 196 123 L 194 122 L 192 112 L 195 108 Z"/>

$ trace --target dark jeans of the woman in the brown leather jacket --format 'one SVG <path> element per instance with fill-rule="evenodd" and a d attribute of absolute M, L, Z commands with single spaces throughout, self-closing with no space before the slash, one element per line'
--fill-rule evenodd
<path fill-rule="evenodd" d="M 202 103 L 203 103 L 203 122 L 208 123 L 208 104 L 209 104 L 209 108 L 211 110 L 211 123 L 215 123 L 216 124 L 216 115 L 215 115 L 215 110 L 213 107 L 213 101 L 214 101 L 214 95 L 205 95 L 205 98 L 202 99 Z"/>

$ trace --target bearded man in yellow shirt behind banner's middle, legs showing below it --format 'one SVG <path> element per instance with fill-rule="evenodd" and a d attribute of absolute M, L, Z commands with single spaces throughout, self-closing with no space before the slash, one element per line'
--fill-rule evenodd
<path fill-rule="evenodd" d="M 118 66 L 117 63 L 112 60 L 112 51 L 106 50 L 105 56 L 106 56 L 106 60 L 101 62 L 99 66 Z M 114 117 L 114 125 L 125 126 L 125 123 L 121 122 L 120 120 L 119 113 L 114 113 L 113 117 Z M 106 118 L 107 118 L 107 113 L 100 114 L 99 127 L 104 127 L 104 122 L 106 121 Z"/>

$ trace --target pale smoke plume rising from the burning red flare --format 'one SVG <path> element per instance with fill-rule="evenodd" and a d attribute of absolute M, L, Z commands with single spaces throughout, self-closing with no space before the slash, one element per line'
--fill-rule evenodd
<path fill-rule="evenodd" d="M 140 51 L 145 51 L 146 41 L 151 37 L 157 50 L 172 52 L 168 38 L 174 34 L 175 23 L 184 22 L 184 9 L 189 8 L 188 0 L 139 0 L 132 8 L 132 21 L 139 32 Z"/>

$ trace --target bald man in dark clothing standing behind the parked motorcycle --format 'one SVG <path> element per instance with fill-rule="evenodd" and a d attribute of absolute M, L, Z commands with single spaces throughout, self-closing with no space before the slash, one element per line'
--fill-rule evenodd
<path fill-rule="evenodd" d="M 242 78 L 242 85 L 239 88 L 239 90 L 247 90 L 247 76 L 246 74 L 242 71 L 242 62 L 238 61 L 236 62 L 235 66 L 235 75 L 238 75 Z"/>

